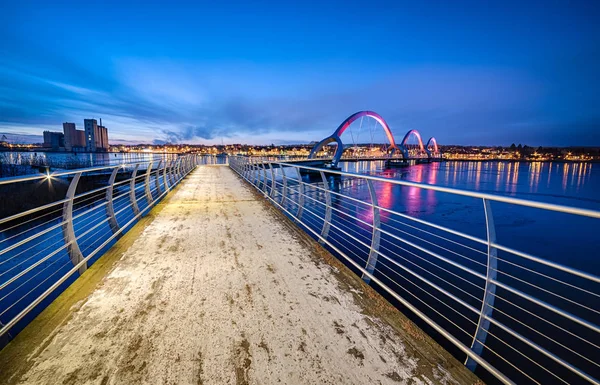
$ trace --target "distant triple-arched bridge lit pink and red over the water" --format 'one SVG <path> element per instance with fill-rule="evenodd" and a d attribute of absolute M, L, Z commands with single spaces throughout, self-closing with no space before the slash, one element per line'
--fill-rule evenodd
<path fill-rule="evenodd" d="M 342 124 L 340 124 L 339 127 L 333 132 L 333 134 L 315 144 L 315 146 L 310 151 L 310 154 L 308 155 L 308 159 L 315 159 L 319 151 L 321 151 L 328 144 L 335 142 L 337 147 L 335 150 L 335 154 L 333 155 L 330 167 L 337 168 L 338 163 L 340 162 L 345 150 L 344 144 L 342 143 L 341 135 L 352 123 L 354 123 L 359 118 L 363 117 L 370 117 L 372 119 L 375 119 L 377 123 L 379 123 L 379 125 L 383 128 L 383 131 L 385 132 L 389 142 L 388 151 L 390 157 L 393 157 L 396 153 L 399 153 L 402 156 L 402 159 L 405 160 L 411 158 L 427 158 L 431 160 L 432 158 L 440 157 L 441 154 L 438 148 L 437 140 L 434 137 L 429 138 L 427 143 L 423 144 L 423 140 L 419 131 L 409 130 L 406 133 L 406 135 L 404 135 L 404 138 L 402 139 L 402 142 L 400 142 L 400 145 L 397 145 L 392 130 L 381 115 L 373 111 L 359 111 L 346 118 L 342 122 Z M 413 137 L 417 140 L 416 149 L 411 148 L 408 144 L 409 140 Z"/>

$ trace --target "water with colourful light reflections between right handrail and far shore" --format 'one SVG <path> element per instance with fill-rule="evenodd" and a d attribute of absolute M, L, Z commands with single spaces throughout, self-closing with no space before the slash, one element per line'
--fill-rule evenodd
<path fill-rule="evenodd" d="M 593 163 L 443 162 L 385 169 L 384 162 L 347 162 L 343 171 L 600 209 L 600 174 Z M 420 189 L 408 188 L 416 197 Z M 435 204 L 435 194 L 425 194 Z"/>

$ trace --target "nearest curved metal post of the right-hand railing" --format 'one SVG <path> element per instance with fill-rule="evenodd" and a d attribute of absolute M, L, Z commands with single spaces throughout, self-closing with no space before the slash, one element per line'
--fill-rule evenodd
<path fill-rule="evenodd" d="M 485 213 L 485 225 L 487 229 L 487 246 L 488 246 L 488 261 L 487 261 L 487 272 L 485 279 L 485 291 L 483 294 L 483 301 L 481 303 L 481 312 L 479 313 L 479 322 L 477 322 L 477 329 L 473 336 L 473 342 L 471 342 L 471 350 L 473 353 L 481 356 L 485 340 L 487 338 L 488 330 L 490 328 L 489 318 L 492 316 L 494 311 L 494 299 L 496 298 L 496 285 L 493 283 L 496 280 L 497 269 L 498 269 L 498 250 L 492 245 L 496 242 L 496 227 L 494 225 L 494 216 L 492 214 L 491 202 L 483 198 L 483 209 Z M 475 371 L 477 362 L 470 357 L 465 360 L 465 365 L 471 371 Z"/>

